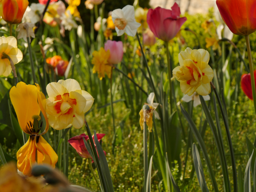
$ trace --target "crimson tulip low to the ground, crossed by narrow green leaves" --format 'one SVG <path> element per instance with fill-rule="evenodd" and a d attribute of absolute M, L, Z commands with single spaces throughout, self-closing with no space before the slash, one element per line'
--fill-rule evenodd
<path fill-rule="evenodd" d="M 98 139 L 99 142 L 102 139 L 102 137 L 105 136 L 105 134 L 102 134 L 102 133 L 97 133 L 96 135 L 97 135 L 97 139 Z M 80 155 L 81 157 L 84 157 L 84 158 L 92 158 L 91 155 L 89 154 L 89 152 L 87 151 L 85 145 L 84 145 L 83 138 L 85 140 L 89 139 L 89 137 L 83 133 L 81 135 L 77 135 L 75 137 L 70 138 L 68 140 L 68 142 L 70 143 L 70 145 L 73 148 L 76 149 L 76 152 L 78 153 L 78 155 Z M 92 135 L 92 139 L 94 141 L 94 135 Z M 95 146 L 95 143 L 94 143 L 94 146 Z M 96 148 L 96 146 L 95 146 L 95 148 Z M 96 148 L 96 150 L 97 150 L 97 148 Z M 98 151 L 97 151 L 97 153 L 98 153 Z M 104 151 L 104 154 L 106 155 L 105 151 Z"/>

